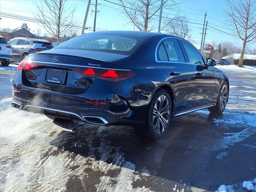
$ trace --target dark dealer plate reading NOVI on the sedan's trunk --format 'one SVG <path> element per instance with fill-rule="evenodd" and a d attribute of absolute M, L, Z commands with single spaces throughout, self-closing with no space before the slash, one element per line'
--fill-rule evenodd
<path fill-rule="evenodd" d="M 58 69 L 47 69 L 46 82 L 64 84 L 67 72 Z"/>

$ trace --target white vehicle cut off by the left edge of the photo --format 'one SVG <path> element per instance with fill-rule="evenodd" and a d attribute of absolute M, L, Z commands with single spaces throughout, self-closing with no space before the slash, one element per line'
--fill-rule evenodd
<path fill-rule="evenodd" d="M 8 66 L 12 58 L 12 46 L 0 36 L 0 62 L 2 66 Z"/>

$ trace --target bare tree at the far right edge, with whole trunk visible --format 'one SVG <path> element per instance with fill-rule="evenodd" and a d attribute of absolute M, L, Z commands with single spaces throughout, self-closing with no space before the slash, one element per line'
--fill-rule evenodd
<path fill-rule="evenodd" d="M 242 67 L 246 43 L 256 41 L 256 0 L 227 0 L 227 6 L 224 13 L 228 17 L 230 30 L 243 41 L 238 63 Z"/>

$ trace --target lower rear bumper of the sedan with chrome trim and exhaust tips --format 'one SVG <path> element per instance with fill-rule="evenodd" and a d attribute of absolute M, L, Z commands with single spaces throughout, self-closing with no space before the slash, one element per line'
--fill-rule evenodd
<path fill-rule="evenodd" d="M 18 98 L 17 96 L 12 96 L 12 106 L 20 110 L 31 111 L 57 118 L 80 120 L 90 124 L 124 126 L 140 126 L 144 124 L 144 122 L 129 120 L 129 116 L 132 115 L 133 111 L 130 111 L 129 114 L 123 118 L 102 109 L 71 108 L 70 106 L 56 106 L 51 104 L 41 106 L 39 103 L 35 105 L 32 102 Z"/>

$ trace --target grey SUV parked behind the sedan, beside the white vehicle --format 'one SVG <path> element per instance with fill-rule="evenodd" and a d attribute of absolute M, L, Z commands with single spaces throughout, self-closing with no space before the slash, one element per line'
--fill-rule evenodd
<path fill-rule="evenodd" d="M 21 61 L 28 54 L 37 53 L 53 48 L 52 44 L 42 39 L 16 37 L 9 41 L 12 46 L 12 59 Z"/>

